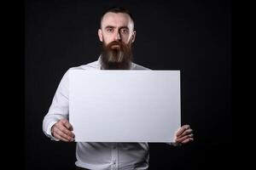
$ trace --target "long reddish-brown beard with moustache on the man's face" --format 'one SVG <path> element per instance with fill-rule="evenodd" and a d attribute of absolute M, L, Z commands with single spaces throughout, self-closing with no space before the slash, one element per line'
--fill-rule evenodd
<path fill-rule="evenodd" d="M 129 70 L 131 68 L 131 42 L 103 43 L 101 64 L 104 70 Z"/>

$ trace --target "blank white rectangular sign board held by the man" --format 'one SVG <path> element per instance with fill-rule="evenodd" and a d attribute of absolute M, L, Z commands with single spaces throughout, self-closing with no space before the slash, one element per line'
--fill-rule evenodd
<path fill-rule="evenodd" d="M 173 142 L 180 71 L 69 71 L 76 142 Z"/>

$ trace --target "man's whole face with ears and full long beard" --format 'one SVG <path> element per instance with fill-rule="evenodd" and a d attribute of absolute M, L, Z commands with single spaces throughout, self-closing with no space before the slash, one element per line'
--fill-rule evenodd
<path fill-rule="evenodd" d="M 132 61 L 131 43 L 135 40 L 133 21 L 129 14 L 107 13 L 102 18 L 98 31 L 102 47 L 102 69 L 130 69 Z"/>

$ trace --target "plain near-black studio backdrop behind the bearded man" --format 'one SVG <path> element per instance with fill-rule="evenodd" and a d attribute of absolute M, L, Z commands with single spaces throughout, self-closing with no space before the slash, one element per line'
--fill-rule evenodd
<path fill-rule="evenodd" d="M 131 9 L 134 58 L 153 70 L 181 70 L 182 123 L 195 141 L 149 144 L 150 169 L 228 165 L 231 141 L 230 1 L 26 1 L 26 169 L 73 169 L 75 144 L 44 136 L 42 122 L 69 67 L 98 58 L 103 9 Z M 223 167 L 222 166 L 222 167 Z"/>

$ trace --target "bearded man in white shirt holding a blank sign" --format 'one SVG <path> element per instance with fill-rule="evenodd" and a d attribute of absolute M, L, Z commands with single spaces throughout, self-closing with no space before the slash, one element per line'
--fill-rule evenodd
<path fill-rule="evenodd" d="M 146 70 L 132 63 L 131 43 L 135 41 L 134 20 L 125 8 L 110 8 L 102 15 L 98 37 L 102 42 L 99 59 L 72 69 L 82 70 Z M 68 71 L 67 71 L 68 72 Z M 51 139 L 72 142 L 73 127 L 68 122 L 68 74 L 62 77 L 48 114 L 44 117 L 44 133 Z M 86 133 L 86 132 L 84 132 Z M 192 129 L 177 129 L 175 144 L 193 140 Z M 148 169 L 147 143 L 77 143 L 77 169 Z"/>

